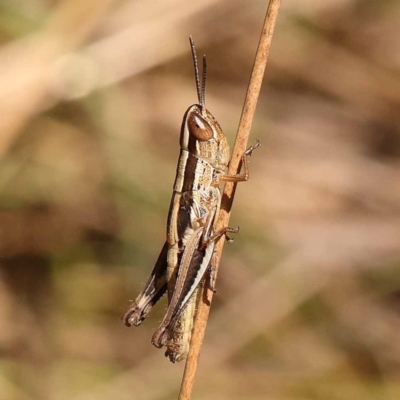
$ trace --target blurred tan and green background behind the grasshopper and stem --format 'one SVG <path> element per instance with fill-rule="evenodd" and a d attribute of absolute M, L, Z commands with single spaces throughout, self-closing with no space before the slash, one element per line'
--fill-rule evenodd
<path fill-rule="evenodd" d="M 282 2 L 195 399 L 400 398 L 400 3 Z M 1 0 L 0 400 L 175 399 L 120 316 L 165 240 L 188 42 L 234 141 L 266 1 Z"/>

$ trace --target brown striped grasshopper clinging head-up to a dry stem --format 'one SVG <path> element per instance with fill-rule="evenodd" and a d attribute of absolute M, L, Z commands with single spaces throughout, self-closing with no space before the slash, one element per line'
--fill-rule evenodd
<path fill-rule="evenodd" d="M 168 309 L 152 337 L 154 346 L 167 346 L 172 362 L 183 360 L 188 351 L 195 316 L 197 294 L 206 271 L 214 290 L 210 266 L 215 242 L 238 229 L 216 231 L 221 190 L 224 182 L 249 178 L 247 156 L 242 156 L 244 172 L 229 175 L 229 145 L 216 119 L 205 107 L 206 58 L 200 83 L 196 49 L 190 37 L 198 104 L 190 106 L 182 121 L 180 155 L 167 222 L 167 240 L 145 288 L 122 317 L 127 326 L 139 326 L 154 304 L 168 291 Z"/>

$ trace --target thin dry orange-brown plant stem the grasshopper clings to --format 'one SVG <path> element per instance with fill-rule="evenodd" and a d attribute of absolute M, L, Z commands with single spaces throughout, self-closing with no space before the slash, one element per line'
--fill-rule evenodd
<path fill-rule="evenodd" d="M 280 3 L 280 0 L 270 0 L 268 5 L 267 14 L 260 36 L 260 42 L 258 44 L 256 58 L 254 61 L 253 71 L 251 74 L 250 83 L 247 89 L 246 99 L 239 122 L 235 146 L 233 148 L 232 158 L 229 164 L 229 174 L 235 174 L 240 170 L 241 156 L 247 147 L 251 125 L 257 106 L 258 95 L 260 93 L 264 71 L 267 64 L 269 49 L 271 47 L 272 35 L 278 17 Z M 228 226 L 235 190 L 236 184 L 227 183 L 225 185 L 221 204 L 221 212 L 218 218 L 216 230 Z M 215 253 L 212 260 L 212 265 L 215 266 L 215 273 L 217 273 L 218 271 L 224 242 L 225 240 L 222 237 L 215 247 Z M 212 297 L 213 292 L 205 288 L 203 290 L 202 300 L 199 302 L 198 305 L 192 340 L 190 343 L 190 350 L 186 360 L 185 371 L 182 379 L 179 400 L 191 399 Z"/>

